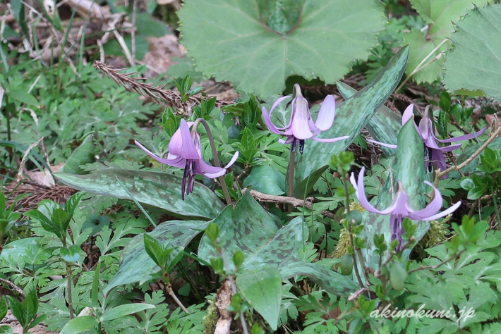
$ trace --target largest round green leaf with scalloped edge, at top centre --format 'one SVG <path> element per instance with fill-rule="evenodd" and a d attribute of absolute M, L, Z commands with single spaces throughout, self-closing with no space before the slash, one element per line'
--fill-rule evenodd
<path fill-rule="evenodd" d="M 261 97 L 290 75 L 342 78 L 385 23 L 375 0 L 188 0 L 178 15 L 199 70 Z"/>

